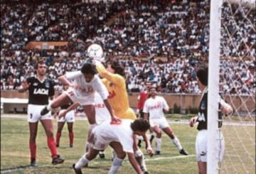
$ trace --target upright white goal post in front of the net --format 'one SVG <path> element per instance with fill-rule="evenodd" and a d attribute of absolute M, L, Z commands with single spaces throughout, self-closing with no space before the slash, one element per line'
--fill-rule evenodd
<path fill-rule="evenodd" d="M 210 40 L 208 60 L 208 139 L 207 173 L 218 173 L 218 93 L 220 71 L 220 18 L 222 1 L 210 1 Z M 214 65 L 214 66 L 213 66 Z"/>

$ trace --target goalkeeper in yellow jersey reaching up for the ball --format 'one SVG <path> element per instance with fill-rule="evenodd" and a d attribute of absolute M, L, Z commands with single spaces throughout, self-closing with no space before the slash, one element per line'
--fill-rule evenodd
<path fill-rule="evenodd" d="M 98 60 L 95 61 L 97 72 L 101 77 L 103 77 L 102 82 L 107 87 L 109 91 L 108 100 L 112 109 L 114 111 L 114 115 L 119 117 L 120 119 L 137 119 L 134 111 L 129 107 L 129 98 L 127 94 L 126 82 L 125 82 L 125 73 L 124 67 L 119 64 L 117 59 L 114 59 L 110 64 L 107 65 L 107 69 L 104 65 Z M 134 139 L 136 136 L 134 137 Z M 153 155 L 153 150 L 149 143 L 149 138 L 144 135 L 144 140 L 146 142 L 146 151 L 149 155 Z M 139 163 L 142 171 L 147 173 L 146 164 L 144 161 L 144 155 L 142 151 L 137 146 L 137 142 L 134 141 L 134 152 L 135 158 Z"/>

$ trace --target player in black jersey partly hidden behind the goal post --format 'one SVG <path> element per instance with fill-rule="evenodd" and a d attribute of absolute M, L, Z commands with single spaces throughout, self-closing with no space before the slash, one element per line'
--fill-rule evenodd
<path fill-rule="evenodd" d="M 193 126 L 198 122 L 198 134 L 196 136 L 196 161 L 198 162 L 198 173 L 206 174 L 207 172 L 207 93 L 208 93 L 208 68 L 199 69 L 196 72 L 199 89 L 201 89 L 202 96 L 199 104 L 198 116 L 194 116 L 190 120 L 190 126 Z M 219 101 L 220 110 L 223 114 L 231 114 L 233 112 L 232 107 L 220 98 Z M 221 132 L 220 132 L 221 134 Z M 224 153 L 224 139 L 221 134 L 220 138 L 220 156 L 219 161 L 223 158 Z"/>

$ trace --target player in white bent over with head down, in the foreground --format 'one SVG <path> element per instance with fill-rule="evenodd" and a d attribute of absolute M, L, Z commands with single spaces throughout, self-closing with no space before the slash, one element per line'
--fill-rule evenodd
<path fill-rule="evenodd" d="M 83 155 L 77 163 L 73 164 L 75 173 L 82 173 L 82 166 L 92 161 L 99 151 L 104 150 L 110 145 L 116 151 L 117 156 L 112 162 L 109 174 L 117 173 L 126 155 L 134 170 L 142 174 L 142 169 L 139 167 L 134 156 L 134 137 L 136 135 L 145 136 L 149 127 L 149 122 L 143 119 L 136 119 L 134 121 L 132 119 L 122 119 L 121 124 L 111 124 L 110 121 L 104 121 L 92 130 L 89 138 L 90 143 L 92 143 L 90 151 Z"/>

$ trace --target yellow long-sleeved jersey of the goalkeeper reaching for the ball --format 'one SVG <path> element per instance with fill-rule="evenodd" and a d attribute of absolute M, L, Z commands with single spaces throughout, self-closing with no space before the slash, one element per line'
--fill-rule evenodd
<path fill-rule="evenodd" d="M 101 62 L 96 62 L 97 72 L 100 74 L 102 82 L 109 91 L 109 101 L 114 114 L 120 119 L 136 119 L 137 116 L 129 107 L 129 99 L 125 84 L 125 79 L 122 75 L 108 72 Z"/>

